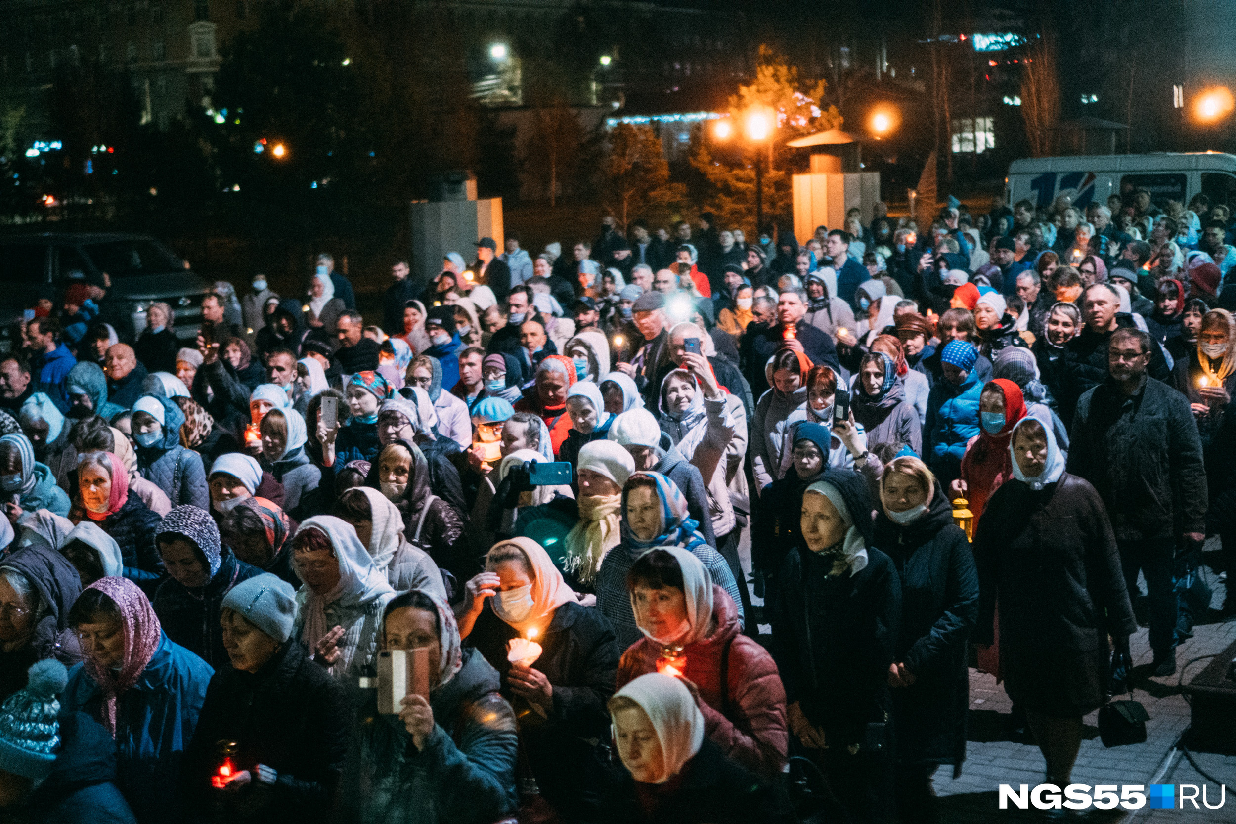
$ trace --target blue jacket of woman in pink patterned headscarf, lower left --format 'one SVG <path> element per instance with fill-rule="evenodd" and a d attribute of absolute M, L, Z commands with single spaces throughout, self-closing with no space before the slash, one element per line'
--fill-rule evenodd
<path fill-rule="evenodd" d="M 193 739 L 214 673 L 159 631 L 146 670 L 116 700 L 116 784 L 142 824 L 182 820 L 180 756 Z M 103 689 L 84 665 L 69 671 L 61 709 L 103 717 Z"/>

